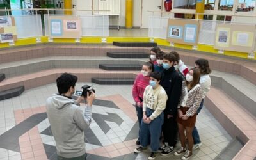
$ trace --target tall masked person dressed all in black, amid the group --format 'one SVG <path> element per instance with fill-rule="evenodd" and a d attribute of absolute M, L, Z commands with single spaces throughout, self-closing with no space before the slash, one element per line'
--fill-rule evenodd
<path fill-rule="evenodd" d="M 182 91 L 182 77 L 173 67 L 175 56 L 172 52 L 163 57 L 164 72 L 160 81 L 168 95 L 166 109 L 164 109 L 164 124 L 162 127 L 164 145 L 159 148 L 162 156 L 168 156 L 173 151 L 177 141 L 177 106 Z"/>

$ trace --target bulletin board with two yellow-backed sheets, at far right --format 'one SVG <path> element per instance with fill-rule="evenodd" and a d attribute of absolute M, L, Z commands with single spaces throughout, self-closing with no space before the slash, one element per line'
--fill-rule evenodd
<path fill-rule="evenodd" d="M 252 52 L 255 48 L 255 25 L 216 24 L 214 48 Z"/>

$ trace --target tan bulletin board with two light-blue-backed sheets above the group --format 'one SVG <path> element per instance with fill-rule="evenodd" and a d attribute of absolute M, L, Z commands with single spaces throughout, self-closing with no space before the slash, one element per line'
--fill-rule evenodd
<path fill-rule="evenodd" d="M 169 42 L 197 45 L 199 22 L 196 20 L 169 19 L 167 38 Z"/>

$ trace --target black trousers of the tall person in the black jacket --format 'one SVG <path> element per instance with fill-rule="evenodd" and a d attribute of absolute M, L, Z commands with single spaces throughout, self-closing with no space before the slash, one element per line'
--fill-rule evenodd
<path fill-rule="evenodd" d="M 164 113 L 164 124 L 163 124 L 163 135 L 164 143 L 168 142 L 169 146 L 175 147 L 177 143 L 177 131 L 178 125 L 176 121 L 176 116 L 167 118 L 167 114 Z"/>

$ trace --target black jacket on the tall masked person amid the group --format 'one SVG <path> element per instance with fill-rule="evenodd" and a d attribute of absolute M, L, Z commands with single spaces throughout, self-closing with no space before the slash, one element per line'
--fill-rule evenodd
<path fill-rule="evenodd" d="M 164 113 L 176 116 L 182 91 L 182 77 L 179 76 L 179 73 L 172 66 L 168 70 L 164 70 L 160 84 L 168 95 Z"/>

